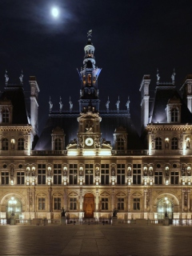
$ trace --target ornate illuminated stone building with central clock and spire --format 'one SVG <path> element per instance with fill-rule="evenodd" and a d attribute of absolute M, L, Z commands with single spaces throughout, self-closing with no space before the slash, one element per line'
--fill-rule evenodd
<path fill-rule="evenodd" d="M 0 98 L 0 218 L 118 219 L 191 218 L 192 76 L 182 97 L 172 82 L 156 84 L 150 104 L 150 75 L 140 91 L 142 138 L 126 110 L 99 110 L 94 46 L 88 39 L 79 110 L 50 114 L 38 135 L 38 83 L 30 77 L 30 108 L 22 78 Z"/>

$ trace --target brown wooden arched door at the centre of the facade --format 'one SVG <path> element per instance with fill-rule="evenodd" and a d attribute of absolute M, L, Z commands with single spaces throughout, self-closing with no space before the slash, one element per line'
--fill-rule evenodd
<path fill-rule="evenodd" d="M 87 193 L 83 202 L 84 218 L 94 218 L 94 195 Z"/>

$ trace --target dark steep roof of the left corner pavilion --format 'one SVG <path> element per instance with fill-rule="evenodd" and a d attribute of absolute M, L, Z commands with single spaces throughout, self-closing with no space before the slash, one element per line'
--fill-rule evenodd
<path fill-rule="evenodd" d="M 8 85 L 0 96 L 0 101 L 9 100 L 13 106 L 12 124 L 29 124 L 26 99 L 22 85 Z"/>

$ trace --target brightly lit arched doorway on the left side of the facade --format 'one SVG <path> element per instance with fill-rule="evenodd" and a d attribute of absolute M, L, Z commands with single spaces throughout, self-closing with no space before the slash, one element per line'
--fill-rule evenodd
<path fill-rule="evenodd" d="M 14 216 L 15 219 L 20 218 L 22 214 L 22 203 L 18 198 L 11 197 L 6 203 L 6 218 Z"/>

